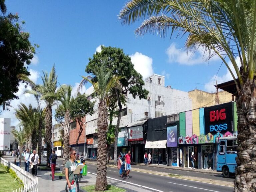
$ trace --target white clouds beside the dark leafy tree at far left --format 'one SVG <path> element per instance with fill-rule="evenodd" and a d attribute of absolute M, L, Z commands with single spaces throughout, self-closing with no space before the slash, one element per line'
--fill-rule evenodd
<path fill-rule="evenodd" d="M 30 78 L 36 82 L 37 79 L 39 78 L 40 73 L 38 71 L 29 70 L 30 72 Z M 16 93 L 16 95 L 19 97 L 19 99 L 14 99 L 11 101 L 11 106 L 12 108 L 10 108 L 10 111 L 2 111 L 1 117 L 4 118 L 11 118 L 11 126 L 17 126 L 19 124 L 19 120 L 16 119 L 15 117 L 15 109 L 18 108 L 18 105 L 20 103 L 24 103 L 26 106 L 28 106 L 29 104 L 31 104 L 33 107 L 37 107 L 37 102 L 36 99 L 33 95 L 31 94 L 24 94 L 25 91 L 25 83 L 21 83 L 19 86 L 19 91 Z M 28 86 L 27 89 L 31 90 L 31 87 Z"/>

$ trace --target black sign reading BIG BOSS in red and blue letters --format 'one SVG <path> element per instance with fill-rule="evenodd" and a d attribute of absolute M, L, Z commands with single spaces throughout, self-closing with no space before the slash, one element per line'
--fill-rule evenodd
<path fill-rule="evenodd" d="M 205 134 L 217 132 L 222 134 L 227 131 L 233 133 L 232 103 L 224 103 L 204 108 Z"/>

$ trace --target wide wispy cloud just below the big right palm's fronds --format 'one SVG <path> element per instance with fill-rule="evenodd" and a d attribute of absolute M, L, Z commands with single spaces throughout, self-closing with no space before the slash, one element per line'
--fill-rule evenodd
<path fill-rule="evenodd" d="M 199 47 L 198 50 L 193 53 L 185 49 L 178 49 L 176 45 L 172 43 L 167 48 L 166 54 L 168 55 L 170 63 L 178 63 L 180 65 L 197 65 L 206 63 L 205 59 L 209 57 L 208 52 L 204 52 L 203 47 Z M 218 56 L 214 56 L 210 61 L 218 60 Z"/>

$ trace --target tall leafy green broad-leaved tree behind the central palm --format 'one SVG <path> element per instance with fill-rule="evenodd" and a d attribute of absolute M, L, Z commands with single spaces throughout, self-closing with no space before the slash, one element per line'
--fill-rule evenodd
<path fill-rule="evenodd" d="M 118 104 L 117 124 L 115 126 L 115 140 L 114 140 L 114 164 L 117 164 L 117 135 L 121 120 L 122 104 L 126 104 L 125 95 L 131 94 L 134 98 L 136 96 L 139 99 L 146 99 L 148 91 L 143 89 L 144 81 L 142 75 L 134 69 L 134 65 L 131 62 L 129 55 L 125 55 L 123 49 L 116 47 L 104 47 L 101 46 L 101 52 L 96 52 L 93 58 L 89 58 L 89 63 L 86 66 L 85 71 L 90 74 L 94 74 L 95 68 L 100 67 L 101 60 L 107 57 L 109 62 L 107 64 L 107 70 L 111 71 L 112 75 L 119 75 L 124 78 L 120 80 L 122 90 L 116 88 L 111 90 L 111 105 L 110 109 L 116 110 L 111 107 Z"/>

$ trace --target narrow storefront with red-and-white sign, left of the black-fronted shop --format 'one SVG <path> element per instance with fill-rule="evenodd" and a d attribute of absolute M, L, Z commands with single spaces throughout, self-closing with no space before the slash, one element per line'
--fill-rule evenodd
<path fill-rule="evenodd" d="M 131 150 L 131 160 L 135 163 L 142 163 L 145 151 L 145 126 L 146 121 L 137 121 L 127 126 L 128 141 Z M 122 148 L 122 152 L 128 152 L 127 147 Z"/>

